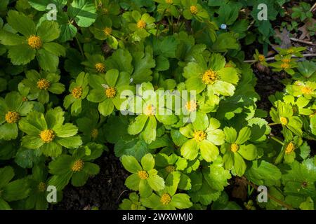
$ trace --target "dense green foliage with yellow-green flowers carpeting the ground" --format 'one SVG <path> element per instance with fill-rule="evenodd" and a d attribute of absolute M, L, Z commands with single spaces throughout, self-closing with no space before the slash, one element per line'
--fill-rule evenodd
<path fill-rule="evenodd" d="M 287 3 L 1 1 L 0 209 L 48 209 L 48 186 L 62 201 L 112 151 L 130 174 L 119 209 L 315 209 L 316 63 L 284 37 L 312 39 L 315 20 Z M 285 77 L 268 110 L 244 45 Z"/>

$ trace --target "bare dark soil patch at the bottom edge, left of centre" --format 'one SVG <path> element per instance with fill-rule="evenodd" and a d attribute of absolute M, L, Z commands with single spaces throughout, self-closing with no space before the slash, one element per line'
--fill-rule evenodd
<path fill-rule="evenodd" d="M 100 173 L 89 179 L 85 186 L 75 188 L 68 185 L 63 190 L 62 202 L 51 207 L 55 210 L 117 210 L 121 200 L 129 190 L 124 186 L 128 172 L 122 167 L 119 158 L 111 153 L 103 154 L 96 160 Z"/>

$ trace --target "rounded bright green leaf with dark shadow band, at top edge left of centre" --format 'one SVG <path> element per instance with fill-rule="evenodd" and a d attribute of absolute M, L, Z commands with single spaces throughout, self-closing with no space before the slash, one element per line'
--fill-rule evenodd
<path fill-rule="evenodd" d="M 90 27 L 96 21 L 96 6 L 91 0 L 74 0 L 67 10 L 79 27 Z"/>

